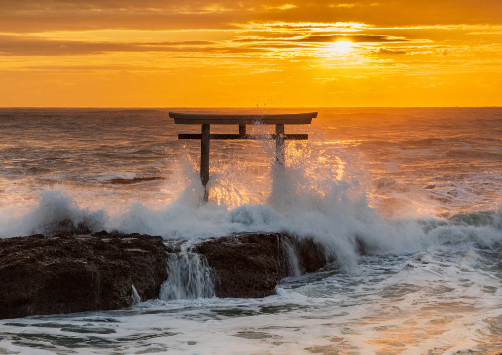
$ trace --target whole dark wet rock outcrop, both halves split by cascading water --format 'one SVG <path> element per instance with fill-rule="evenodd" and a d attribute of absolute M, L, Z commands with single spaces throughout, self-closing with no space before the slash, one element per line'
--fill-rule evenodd
<path fill-rule="evenodd" d="M 143 301 L 156 299 L 168 253 L 183 253 L 181 245 L 106 231 L 0 239 L 0 318 L 126 308 L 132 285 Z M 282 278 L 332 261 L 312 240 L 282 233 L 226 236 L 193 249 L 211 268 L 217 297 L 270 296 Z"/>

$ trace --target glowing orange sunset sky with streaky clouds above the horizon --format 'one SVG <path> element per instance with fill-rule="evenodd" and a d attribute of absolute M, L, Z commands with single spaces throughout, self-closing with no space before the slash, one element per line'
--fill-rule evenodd
<path fill-rule="evenodd" d="M 502 106 L 502 1 L 1 0 L 0 106 Z"/>

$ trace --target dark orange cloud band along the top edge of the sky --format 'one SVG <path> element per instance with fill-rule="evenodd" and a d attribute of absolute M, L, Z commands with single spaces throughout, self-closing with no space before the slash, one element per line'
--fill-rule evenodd
<path fill-rule="evenodd" d="M 335 4 L 333 4 L 335 3 Z M 0 32 L 225 29 L 230 23 L 358 22 L 375 26 L 502 24 L 502 2 L 483 0 L 7 0 Z M 474 10 L 473 10 L 474 9 Z"/>

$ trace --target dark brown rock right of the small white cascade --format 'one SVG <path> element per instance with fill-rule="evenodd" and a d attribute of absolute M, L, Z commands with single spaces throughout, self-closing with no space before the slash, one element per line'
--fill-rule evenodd
<path fill-rule="evenodd" d="M 277 283 L 289 276 L 292 246 L 299 266 L 313 272 L 331 262 L 312 240 L 297 240 L 283 233 L 234 235 L 197 244 L 215 275 L 216 297 L 260 298 L 276 293 Z"/>

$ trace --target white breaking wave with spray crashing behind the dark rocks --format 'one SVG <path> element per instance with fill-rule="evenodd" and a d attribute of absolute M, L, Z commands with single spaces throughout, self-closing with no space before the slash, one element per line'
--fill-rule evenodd
<path fill-rule="evenodd" d="M 99 208 L 83 207 L 78 192 L 57 185 L 43 190 L 38 204 L 26 213 L 2 209 L 6 223 L 0 232 L 5 238 L 106 229 L 162 235 L 166 240 L 285 232 L 299 239 L 313 238 L 346 270 L 356 267 L 361 249 L 369 255 L 404 255 L 444 244 L 489 248 L 502 243 L 500 206 L 461 212 L 443 208 L 438 213 L 437 206 L 450 201 L 442 199 L 441 192 L 388 178 L 372 181 L 357 157 L 334 154 L 323 161 L 322 154 L 313 152 L 307 147 L 302 154 L 289 156 L 285 170 L 272 163 L 270 191 L 255 198 L 257 203 L 239 204 L 241 195 L 225 190 L 228 180 L 245 179 L 239 168 L 232 168 L 216 171 L 209 181 L 210 195 L 223 196 L 220 203 L 202 204 L 197 167 L 188 162 L 183 164 L 182 192 L 164 205 L 133 202 L 117 208 L 121 201 L 114 200 L 110 201 L 113 208 L 102 201 Z"/>

